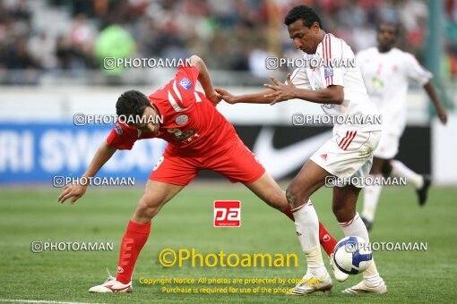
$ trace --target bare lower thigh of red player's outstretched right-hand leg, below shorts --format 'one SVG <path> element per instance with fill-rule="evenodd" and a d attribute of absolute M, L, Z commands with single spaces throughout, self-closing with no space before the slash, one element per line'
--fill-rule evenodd
<path fill-rule="evenodd" d="M 280 189 L 278 183 L 267 172 L 263 173 L 257 181 L 245 183 L 245 185 L 257 197 L 272 207 L 283 210 L 288 206 L 286 192 Z"/>

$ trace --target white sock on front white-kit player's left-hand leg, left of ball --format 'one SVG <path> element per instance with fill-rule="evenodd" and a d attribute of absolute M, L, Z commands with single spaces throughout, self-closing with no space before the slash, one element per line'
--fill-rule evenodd
<path fill-rule="evenodd" d="M 307 274 L 322 277 L 326 274 L 319 244 L 319 219 L 311 200 L 291 210 L 295 218 L 298 241 L 305 252 Z"/>

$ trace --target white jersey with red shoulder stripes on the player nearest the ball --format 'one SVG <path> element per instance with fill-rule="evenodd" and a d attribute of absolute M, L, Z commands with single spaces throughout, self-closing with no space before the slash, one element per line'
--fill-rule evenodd
<path fill-rule="evenodd" d="M 297 88 L 314 90 L 330 86 L 344 88 L 344 100 L 341 105 L 321 106 L 325 114 L 354 116 L 378 114 L 375 104 L 370 101 L 366 93 L 356 57 L 346 42 L 332 34 L 326 34 L 323 41 L 317 45 L 315 55 L 305 55 L 305 59 L 310 64 L 296 69 L 291 75 L 291 80 Z M 379 123 L 335 123 L 334 129 L 379 131 L 381 125 Z"/>

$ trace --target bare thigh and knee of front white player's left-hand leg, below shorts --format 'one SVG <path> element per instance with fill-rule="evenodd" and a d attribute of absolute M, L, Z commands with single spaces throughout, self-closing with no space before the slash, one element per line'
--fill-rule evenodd
<path fill-rule="evenodd" d="M 332 174 L 308 159 L 286 190 L 291 207 L 306 204 L 309 197 L 323 186 L 325 177 L 330 175 Z"/>

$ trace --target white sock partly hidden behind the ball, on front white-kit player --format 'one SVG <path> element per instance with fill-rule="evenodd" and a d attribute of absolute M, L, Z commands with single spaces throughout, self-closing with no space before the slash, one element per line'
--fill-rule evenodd
<path fill-rule="evenodd" d="M 349 222 L 346 223 L 339 223 L 341 229 L 345 236 L 358 236 L 362 238 L 364 241 L 369 242 L 370 239 L 368 237 L 368 231 L 366 230 L 366 226 L 358 213 L 351 219 Z M 369 286 L 375 286 L 378 283 L 381 283 L 383 279 L 379 276 L 377 272 L 376 265 L 375 265 L 375 258 L 371 261 L 370 266 L 364 271 L 363 278 L 366 284 Z"/>

